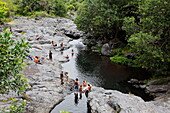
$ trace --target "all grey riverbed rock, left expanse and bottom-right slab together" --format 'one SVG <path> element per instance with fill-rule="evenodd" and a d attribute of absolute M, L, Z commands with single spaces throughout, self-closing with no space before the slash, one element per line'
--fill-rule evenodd
<path fill-rule="evenodd" d="M 76 29 L 73 21 L 66 18 L 26 18 L 17 17 L 9 23 L 12 27 L 13 38 L 19 40 L 23 37 L 30 42 L 32 48 L 29 55 L 40 56 L 42 64 L 35 64 L 33 60 L 25 60 L 27 67 L 21 72 L 25 74 L 30 83 L 27 89 L 26 99 L 17 97 L 15 93 L 0 95 L 0 100 L 17 97 L 18 100 L 27 102 L 26 113 L 49 113 L 50 110 L 64 97 L 70 94 L 72 80 L 68 84 L 61 85 L 59 73 L 62 70 L 61 63 L 68 60 L 61 54 L 60 48 L 54 48 L 51 41 L 59 44 L 64 43 L 65 49 L 72 38 L 83 37 L 83 32 Z M 36 40 L 36 35 L 40 40 Z M 71 37 L 71 38 L 69 38 Z M 49 50 L 53 53 L 53 60 L 48 59 Z M 6 107 L 9 102 L 0 103 L 0 109 Z M 170 111 L 170 99 L 166 101 L 144 102 L 140 97 L 132 94 L 123 94 L 115 90 L 105 90 L 92 87 L 88 103 L 92 113 L 168 113 Z"/>

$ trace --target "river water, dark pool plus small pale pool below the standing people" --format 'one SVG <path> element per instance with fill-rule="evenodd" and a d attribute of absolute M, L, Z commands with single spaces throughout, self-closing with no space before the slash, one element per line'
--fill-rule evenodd
<path fill-rule="evenodd" d="M 72 47 L 62 53 L 63 56 L 70 56 L 70 61 L 62 64 L 62 70 L 69 73 L 69 78 L 78 78 L 80 83 L 87 81 L 91 85 L 105 89 L 132 93 L 146 101 L 152 99 L 143 90 L 136 89 L 127 82 L 131 78 L 139 80 L 147 79 L 150 77 L 147 72 L 112 63 L 108 57 L 100 56 L 99 53 L 87 50 L 82 44 L 81 39 L 73 40 L 70 44 Z M 72 49 L 74 50 L 73 55 L 71 53 Z M 77 97 L 75 94 L 67 96 L 51 113 L 59 113 L 60 110 L 67 110 L 71 113 L 89 112 L 84 94 L 81 99 L 79 95 Z"/>

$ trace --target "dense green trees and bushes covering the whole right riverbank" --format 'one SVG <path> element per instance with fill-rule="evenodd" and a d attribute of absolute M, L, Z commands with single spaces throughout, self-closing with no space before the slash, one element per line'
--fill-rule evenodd
<path fill-rule="evenodd" d="M 168 75 L 169 4 L 169 0 L 86 0 L 78 9 L 75 23 L 96 40 L 118 38 L 125 44 L 121 49 L 129 48 L 136 54 L 133 66 Z M 123 61 L 122 57 L 124 54 L 111 60 L 120 63 L 121 59 L 124 64 L 127 59 Z"/>

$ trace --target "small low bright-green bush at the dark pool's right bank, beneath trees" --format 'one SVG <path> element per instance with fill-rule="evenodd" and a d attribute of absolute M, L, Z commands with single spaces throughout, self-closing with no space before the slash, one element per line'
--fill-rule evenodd
<path fill-rule="evenodd" d="M 131 59 L 128 59 L 128 58 L 122 57 L 122 56 L 118 56 L 118 55 L 110 57 L 110 60 L 114 63 L 124 64 L 124 65 L 127 65 L 128 63 L 132 63 Z"/>

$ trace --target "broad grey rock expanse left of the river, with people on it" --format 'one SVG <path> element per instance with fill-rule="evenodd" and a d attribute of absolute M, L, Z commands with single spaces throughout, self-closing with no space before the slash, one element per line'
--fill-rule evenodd
<path fill-rule="evenodd" d="M 68 84 L 61 85 L 59 74 L 62 70 L 61 63 L 67 62 L 60 51 L 59 45 L 64 43 L 64 48 L 70 47 L 68 42 L 70 37 L 80 37 L 82 32 L 76 29 L 73 21 L 66 18 L 26 18 L 18 17 L 9 23 L 12 28 L 12 37 L 15 40 L 26 38 L 31 45 L 29 55 L 34 58 L 40 56 L 42 64 L 35 64 L 33 60 L 25 60 L 27 67 L 21 72 L 28 78 L 30 88 L 27 89 L 27 113 L 48 113 L 57 103 L 70 94 L 70 87 L 73 83 L 69 80 Z M 36 35 L 40 40 L 36 40 Z M 53 47 L 51 42 L 58 44 Z M 49 50 L 53 53 L 52 61 L 49 60 Z M 14 92 L 9 95 L 1 95 L 1 100 L 17 97 L 23 100 L 25 97 L 18 97 Z M 28 101 L 29 100 L 29 101 Z M 1 104 L 0 108 L 6 107 L 11 101 Z"/>

